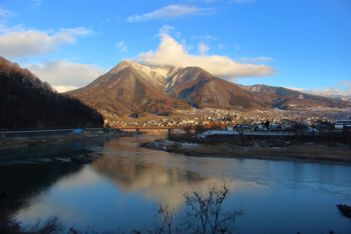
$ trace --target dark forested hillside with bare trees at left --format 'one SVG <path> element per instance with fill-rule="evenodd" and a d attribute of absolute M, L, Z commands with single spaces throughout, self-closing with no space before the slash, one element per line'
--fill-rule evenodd
<path fill-rule="evenodd" d="M 0 129 L 102 127 L 100 113 L 0 56 Z"/>

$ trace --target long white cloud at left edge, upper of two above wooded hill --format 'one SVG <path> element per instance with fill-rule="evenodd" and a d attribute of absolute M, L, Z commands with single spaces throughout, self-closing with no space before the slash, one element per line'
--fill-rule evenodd
<path fill-rule="evenodd" d="M 73 43 L 78 37 L 97 35 L 84 27 L 61 28 L 58 32 L 25 30 L 22 25 L 0 26 L 1 55 L 5 58 L 16 58 L 25 55 L 41 55 L 50 53 L 58 45 Z M 52 34 L 53 33 L 53 34 Z M 52 34 L 52 35 L 50 35 Z"/>

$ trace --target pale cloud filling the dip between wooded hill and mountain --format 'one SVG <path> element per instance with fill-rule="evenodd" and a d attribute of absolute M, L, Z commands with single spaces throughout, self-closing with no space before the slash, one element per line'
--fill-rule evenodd
<path fill-rule="evenodd" d="M 95 64 L 81 64 L 62 60 L 46 61 L 42 64 L 27 64 L 22 67 L 28 68 L 39 79 L 48 82 L 54 88 L 62 90 L 64 86 L 82 87 L 106 73 L 105 68 Z M 73 89 L 74 89 L 73 88 Z"/>

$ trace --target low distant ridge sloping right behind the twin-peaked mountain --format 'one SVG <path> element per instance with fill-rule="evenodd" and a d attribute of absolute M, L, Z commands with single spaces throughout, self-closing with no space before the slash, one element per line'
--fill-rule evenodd
<path fill-rule="evenodd" d="M 338 108 L 351 106 L 351 103 L 348 101 L 302 93 L 283 87 L 274 87 L 268 85 L 236 85 L 242 89 L 259 95 L 262 101 L 271 103 L 273 107 L 278 107 L 280 109 L 295 109 L 297 107 L 309 108 L 311 106 L 327 106 Z"/>

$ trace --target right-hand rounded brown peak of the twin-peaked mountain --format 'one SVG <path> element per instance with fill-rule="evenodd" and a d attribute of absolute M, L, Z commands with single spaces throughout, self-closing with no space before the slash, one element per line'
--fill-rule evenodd
<path fill-rule="evenodd" d="M 257 95 L 214 77 L 200 67 L 186 67 L 167 79 L 166 93 L 192 106 L 221 108 L 270 108 Z"/>

